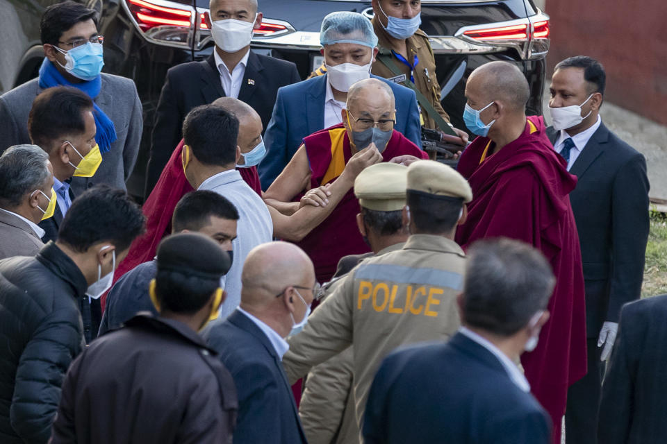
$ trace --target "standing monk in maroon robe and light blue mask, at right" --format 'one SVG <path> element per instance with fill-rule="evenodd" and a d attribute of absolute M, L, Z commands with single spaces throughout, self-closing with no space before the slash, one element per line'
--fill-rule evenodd
<path fill-rule="evenodd" d="M 525 76 L 509 62 L 470 74 L 463 120 L 478 137 L 458 169 L 474 197 L 456 242 L 466 248 L 484 237 L 510 237 L 550 260 L 557 278 L 551 318 L 521 361 L 532 393 L 552 418 L 553 443 L 560 443 L 568 386 L 586 374 L 582 256 L 568 196 L 577 178 L 547 139 L 543 118 L 526 117 L 528 98 Z"/>

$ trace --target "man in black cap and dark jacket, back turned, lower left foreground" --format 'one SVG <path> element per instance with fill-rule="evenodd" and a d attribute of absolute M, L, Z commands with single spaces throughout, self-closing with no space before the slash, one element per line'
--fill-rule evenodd
<path fill-rule="evenodd" d="M 197 334 L 224 300 L 229 256 L 186 233 L 165 239 L 156 262 L 150 293 L 160 315 L 134 316 L 74 360 L 51 443 L 231 442 L 236 388 Z"/>

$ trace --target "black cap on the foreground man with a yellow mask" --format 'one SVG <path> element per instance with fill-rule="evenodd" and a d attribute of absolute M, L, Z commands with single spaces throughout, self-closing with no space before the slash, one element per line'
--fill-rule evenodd
<path fill-rule="evenodd" d="M 163 239 L 158 246 L 158 271 L 176 271 L 217 280 L 230 267 L 229 254 L 204 234 L 173 234 Z"/>

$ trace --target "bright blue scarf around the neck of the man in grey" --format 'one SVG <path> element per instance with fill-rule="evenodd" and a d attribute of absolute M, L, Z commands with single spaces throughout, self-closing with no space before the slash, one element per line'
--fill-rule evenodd
<path fill-rule="evenodd" d="M 95 118 L 95 126 L 97 126 L 97 133 L 95 134 L 95 141 L 99 144 L 99 151 L 106 153 L 111 148 L 111 144 L 116 141 L 116 128 L 104 111 L 102 111 L 94 99 L 99 95 L 99 90 L 102 86 L 101 76 L 81 83 L 71 83 L 60 71 L 49 62 L 49 59 L 44 57 L 42 67 L 40 67 L 40 87 L 47 89 L 54 86 L 71 86 L 88 94 L 88 97 L 93 100 L 92 116 Z"/>

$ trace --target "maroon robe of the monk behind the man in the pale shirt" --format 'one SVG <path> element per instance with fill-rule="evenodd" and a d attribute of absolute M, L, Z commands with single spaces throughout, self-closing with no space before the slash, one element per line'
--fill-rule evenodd
<path fill-rule="evenodd" d="M 183 140 L 181 139 L 167 162 L 167 166 L 160 174 L 155 188 L 142 207 L 144 216 L 146 216 L 146 232 L 133 241 L 129 253 L 118 265 L 113 275 L 114 283 L 135 266 L 153 259 L 160 241 L 172 232 L 172 215 L 176 204 L 188 192 L 193 191 L 183 173 L 182 152 Z M 248 186 L 262 196 L 257 167 L 237 168 L 237 170 Z M 102 310 L 105 304 L 106 293 L 101 298 Z"/>

